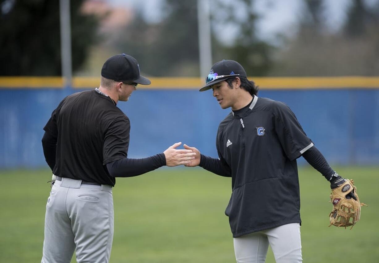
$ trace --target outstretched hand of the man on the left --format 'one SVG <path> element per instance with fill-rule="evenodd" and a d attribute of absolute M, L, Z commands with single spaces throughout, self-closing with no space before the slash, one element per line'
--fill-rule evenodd
<path fill-rule="evenodd" d="M 181 142 L 174 143 L 163 152 L 167 166 L 187 165 L 191 163 L 191 160 L 194 160 L 196 153 L 190 149 L 175 149 L 181 144 Z"/>

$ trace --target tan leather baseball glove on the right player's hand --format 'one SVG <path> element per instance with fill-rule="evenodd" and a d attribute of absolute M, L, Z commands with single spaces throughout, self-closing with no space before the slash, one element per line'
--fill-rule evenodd
<path fill-rule="evenodd" d="M 352 228 L 359 221 L 361 206 L 366 205 L 359 202 L 357 187 L 352 179 L 346 179 L 343 184 L 332 189 L 330 202 L 333 204 L 333 210 L 329 215 L 329 226 L 345 227 L 345 229 L 348 226 Z"/>

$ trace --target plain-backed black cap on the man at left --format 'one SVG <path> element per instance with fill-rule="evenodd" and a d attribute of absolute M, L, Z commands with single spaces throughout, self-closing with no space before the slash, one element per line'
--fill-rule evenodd
<path fill-rule="evenodd" d="M 101 69 L 101 75 L 119 82 L 151 84 L 149 79 L 139 75 L 139 65 L 136 59 L 126 54 L 117 54 L 108 58 Z"/>

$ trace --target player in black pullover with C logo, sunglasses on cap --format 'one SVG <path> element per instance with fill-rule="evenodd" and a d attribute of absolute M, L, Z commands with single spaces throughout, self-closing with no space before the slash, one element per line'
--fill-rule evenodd
<path fill-rule="evenodd" d="M 257 96 L 258 87 L 238 62 L 223 60 L 213 65 L 200 91 L 208 89 L 222 109 L 232 108 L 218 128 L 219 158 L 184 145 L 196 153 L 186 166 L 199 165 L 232 177 L 225 214 L 237 262 L 265 262 L 269 244 L 276 262 L 302 262 L 296 159 L 303 156 L 330 181 L 332 189 L 345 179 L 330 168 L 286 104 Z"/>

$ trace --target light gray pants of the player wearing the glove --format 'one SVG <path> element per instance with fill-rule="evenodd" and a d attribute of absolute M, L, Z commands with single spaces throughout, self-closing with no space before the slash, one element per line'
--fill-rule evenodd
<path fill-rule="evenodd" d="M 264 263 L 268 245 L 276 263 L 301 263 L 300 224 L 291 223 L 233 238 L 237 263 Z"/>

